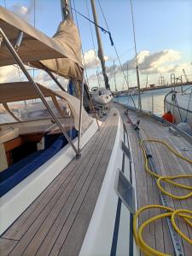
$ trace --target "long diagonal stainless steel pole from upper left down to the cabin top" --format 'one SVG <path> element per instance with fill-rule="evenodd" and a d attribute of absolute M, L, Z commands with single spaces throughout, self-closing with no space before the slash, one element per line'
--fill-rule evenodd
<path fill-rule="evenodd" d="M 67 138 L 67 142 L 71 144 L 74 152 L 76 153 L 76 155 L 79 155 L 79 152 L 77 150 L 77 148 L 75 148 L 75 146 L 73 145 L 70 137 L 68 137 L 67 132 L 65 131 L 65 129 L 62 127 L 60 120 L 56 117 L 55 113 L 52 111 L 52 109 L 49 107 L 48 102 L 46 102 L 45 98 L 44 98 L 44 94 L 42 93 L 42 91 L 38 88 L 38 85 L 33 81 L 32 77 L 30 76 L 30 74 L 27 72 L 26 67 L 24 66 L 23 62 L 20 59 L 20 56 L 16 53 L 14 47 L 12 46 L 12 44 L 10 44 L 9 39 L 6 37 L 5 33 L 3 32 L 3 29 L 0 27 L 0 34 L 2 34 L 3 39 L 4 39 L 4 43 L 6 44 L 6 46 L 8 47 L 9 51 L 11 52 L 11 54 L 14 56 L 15 61 L 18 63 L 18 65 L 20 66 L 21 70 L 23 71 L 23 73 L 26 75 L 26 78 L 29 80 L 29 82 L 32 84 L 34 90 L 36 90 L 36 92 L 38 93 L 38 96 L 41 98 L 42 102 L 44 103 L 45 108 L 47 108 L 47 110 L 49 111 L 50 115 L 53 117 L 53 119 L 55 120 L 55 123 L 59 126 L 59 128 L 61 129 L 63 135 Z"/>

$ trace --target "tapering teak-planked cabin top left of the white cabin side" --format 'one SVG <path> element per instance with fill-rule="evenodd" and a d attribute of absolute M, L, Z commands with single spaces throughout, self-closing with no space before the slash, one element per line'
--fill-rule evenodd
<path fill-rule="evenodd" d="M 79 254 L 113 149 L 119 119 L 113 112 L 83 148 L 81 157 L 1 236 L 1 256 Z"/>

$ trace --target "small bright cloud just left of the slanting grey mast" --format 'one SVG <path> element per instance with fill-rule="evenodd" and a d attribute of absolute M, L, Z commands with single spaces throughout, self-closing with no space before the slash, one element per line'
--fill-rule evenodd
<path fill-rule="evenodd" d="M 105 61 L 108 61 L 108 56 L 104 56 Z M 84 52 L 84 65 L 86 68 L 96 68 L 101 65 L 101 62 L 96 55 L 96 51 L 94 49 L 90 49 Z"/>

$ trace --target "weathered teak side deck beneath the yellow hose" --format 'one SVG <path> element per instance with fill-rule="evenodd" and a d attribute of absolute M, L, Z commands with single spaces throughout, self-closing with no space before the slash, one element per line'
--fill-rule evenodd
<path fill-rule="evenodd" d="M 127 123 L 127 117 L 124 115 L 125 108 L 115 104 L 116 108 L 119 109 L 125 125 L 127 127 L 130 139 L 131 139 L 131 148 L 133 151 L 133 159 L 136 171 L 137 179 L 137 201 L 138 208 L 151 205 L 151 204 L 160 204 L 160 193 L 157 188 L 155 178 L 151 177 L 144 170 L 144 160 L 143 153 L 139 145 L 136 131 L 131 127 L 131 124 Z M 129 111 L 129 116 L 133 123 L 136 123 L 140 119 L 140 132 L 143 138 L 155 138 L 166 141 L 172 145 L 180 154 L 192 159 L 192 145 L 189 144 L 183 137 L 177 137 L 172 135 L 168 131 L 168 127 L 159 123 L 158 121 L 147 118 L 147 117 L 137 117 L 137 113 Z M 180 160 L 174 154 L 172 154 L 165 146 L 158 143 L 149 144 L 151 153 L 153 154 L 155 166 L 158 167 L 159 173 L 162 173 L 166 176 L 173 176 L 177 174 L 192 174 L 192 165 L 189 163 Z M 189 151 L 183 151 L 181 148 L 188 148 Z M 178 181 L 178 180 L 177 180 Z M 184 180 L 181 183 L 186 183 L 192 186 L 192 180 Z M 182 191 L 182 189 L 176 189 L 166 185 L 166 190 L 171 191 L 175 195 L 184 195 L 189 193 L 188 191 Z M 192 198 L 184 201 L 172 200 L 170 197 L 167 197 L 169 201 L 169 206 L 173 208 L 184 208 L 192 209 Z M 145 212 L 139 218 L 139 224 L 142 224 L 144 220 L 153 217 L 156 214 L 160 214 L 159 210 L 150 210 Z M 192 240 L 192 230 L 186 226 L 182 221 L 179 221 L 178 226 L 183 231 L 184 234 L 189 236 Z M 158 220 L 153 224 L 150 224 L 144 232 L 144 240 L 148 242 L 148 245 L 154 247 L 160 252 L 169 253 L 174 255 L 172 240 L 167 228 L 166 220 Z M 192 255 L 192 246 L 188 242 L 183 240 L 183 248 L 186 256 Z"/>

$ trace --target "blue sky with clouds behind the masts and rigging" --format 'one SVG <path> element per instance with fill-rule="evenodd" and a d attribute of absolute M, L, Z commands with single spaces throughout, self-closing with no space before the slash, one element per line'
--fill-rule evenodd
<path fill-rule="evenodd" d="M 114 90 L 114 73 L 117 90 L 127 88 L 124 75 L 126 78 L 128 76 L 130 86 L 136 86 L 131 2 L 130 0 L 95 1 L 98 23 L 111 32 L 120 59 L 119 63 L 108 34 L 101 32 L 111 89 Z M 71 3 L 73 9 L 93 20 L 90 0 L 71 0 Z M 141 87 L 146 85 L 147 77 L 148 84 L 158 84 L 160 76 L 164 77 L 166 83 L 170 83 L 171 73 L 179 77 L 183 75 L 183 68 L 192 80 L 192 0 L 132 0 L 132 4 Z M 3 7 L 6 5 L 7 9 L 14 11 L 50 37 L 54 35 L 61 21 L 60 0 L 0 0 L 0 5 Z M 76 16 L 74 11 L 73 20 L 79 25 L 90 87 L 103 85 L 101 65 L 96 58 L 95 28 L 88 20 L 80 15 Z M 11 72 L 13 67 L 8 67 L 5 71 L 0 70 L 0 80 L 5 80 Z M 42 79 L 44 82 L 41 73 L 37 76 L 37 79 Z"/>

